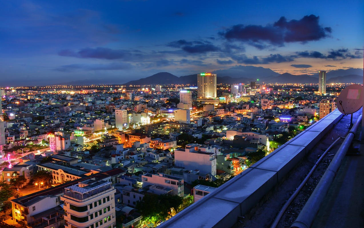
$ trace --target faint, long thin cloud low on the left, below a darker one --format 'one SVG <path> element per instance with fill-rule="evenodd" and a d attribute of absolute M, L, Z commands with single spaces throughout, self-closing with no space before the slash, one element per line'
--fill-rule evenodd
<path fill-rule="evenodd" d="M 129 70 L 132 69 L 131 64 L 127 63 L 111 63 L 111 64 L 71 64 L 56 68 L 57 71 L 71 72 L 76 70 Z"/>

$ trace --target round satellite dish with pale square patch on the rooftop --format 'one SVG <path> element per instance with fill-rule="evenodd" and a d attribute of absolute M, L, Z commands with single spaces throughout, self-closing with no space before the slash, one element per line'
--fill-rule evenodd
<path fill-rule="evenodd" d="M 363 106 L 363 86 L 349 85 L 337 97 L 337 109 L 343 114 L 352 114 Z"/>

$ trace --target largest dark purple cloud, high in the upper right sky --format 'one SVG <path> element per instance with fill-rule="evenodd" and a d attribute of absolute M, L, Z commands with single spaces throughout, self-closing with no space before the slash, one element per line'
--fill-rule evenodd
<path fill-rule="evenodd" d="M 265 43 L 274 46 L 284 46 L 285 42 L 307 42 L 328 37 L 331 28 L 318 24 L 319 17 L 315 15 L 304 16 L 300 20 L 287 21 L 281 17 L 273 25 L 234 25 L 219 34 L 227 40 L 238 40 L 256 46 L 258 49 L 266 48 Z"/>

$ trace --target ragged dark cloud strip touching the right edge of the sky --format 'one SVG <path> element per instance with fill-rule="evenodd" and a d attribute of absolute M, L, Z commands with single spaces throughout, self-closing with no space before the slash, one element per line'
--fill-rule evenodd
<path fill-rule="evenodd" d="M 309 58 L 326 58 L 326 59 L 363 58 L 363 55 L 360 53 L 360 51 L 351 53 L 348 49 L 345 49 L 345 48 L 337 49 L 337 50 L 331 49 L 328 51 L 327 55 L 317 52 L 317 51 L 296 52 L 296 54 L 297 54 L 297 57 L 309 57 Z"/>

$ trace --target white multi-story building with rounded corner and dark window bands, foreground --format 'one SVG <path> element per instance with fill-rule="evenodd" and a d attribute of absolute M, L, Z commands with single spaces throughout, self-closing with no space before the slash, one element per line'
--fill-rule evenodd
<path fill-rule="evenodd" d="M 66 187 L 64 201 L 66 228 L 113 228 L 116 227 L 116 190 L 110 182 L 86 180 Z"/>

